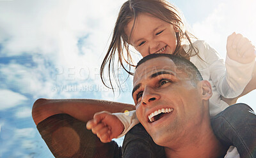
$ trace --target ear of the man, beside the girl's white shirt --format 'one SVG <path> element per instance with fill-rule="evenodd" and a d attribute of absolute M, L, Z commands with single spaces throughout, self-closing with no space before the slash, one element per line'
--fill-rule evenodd
<path fill-rule="evenodd" d="M 202 80 L 199 82 L 198 86 L 200 87 L 200 94 L 202 99 L 209 100 L 212 96 L 212 85 L 207 80 Z"/>

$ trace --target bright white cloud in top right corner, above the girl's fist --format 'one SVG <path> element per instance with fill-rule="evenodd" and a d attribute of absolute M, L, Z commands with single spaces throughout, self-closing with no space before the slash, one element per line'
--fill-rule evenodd
<path fill-rule="evenodd" d="M 193 24 L 193 31 L 225 57 L 227 37 L 234 31 L 243 34 L 256 45 L 255 8 L 254 0 L 221 1 L 205 20 Z"/>

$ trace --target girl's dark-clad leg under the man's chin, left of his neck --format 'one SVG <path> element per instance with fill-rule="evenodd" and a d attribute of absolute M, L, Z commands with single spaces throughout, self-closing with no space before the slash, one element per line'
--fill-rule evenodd
<path fill-rule="evenodd" d="M 122 152 L 123 158 L 165 158 L 164 148 L 154 143 L 141 124 L 125 135 Z"/>

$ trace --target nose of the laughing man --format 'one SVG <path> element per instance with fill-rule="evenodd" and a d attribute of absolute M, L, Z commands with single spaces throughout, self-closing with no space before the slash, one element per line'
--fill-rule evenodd
<path fill-rule="evenodd" d="M 143 91 L 142 96 L 142 104 L 148 105 L 150 103 L 153 103 L 154 101 L 157 101 L 160 98 L 159 94 L 154 90 L 152 87 L 145 87 Z"/>

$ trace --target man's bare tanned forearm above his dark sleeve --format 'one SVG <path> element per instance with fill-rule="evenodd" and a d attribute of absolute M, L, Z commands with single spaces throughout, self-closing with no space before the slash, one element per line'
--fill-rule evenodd
<path fill-rule="evenodd" d="M 111 113 L 116 113 L 134 109 L 132 104 L 95 99 L 38 99 L 33 105 L 32 117 L 36 125 L 58 113 L 66 113 L 78 120 L 87 122 L 99 111 L 108 110 Z"/>

